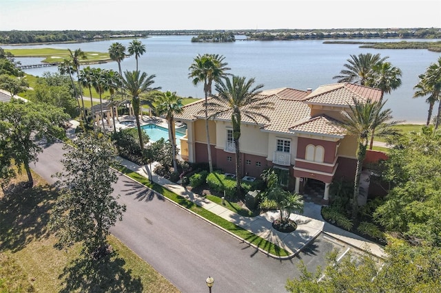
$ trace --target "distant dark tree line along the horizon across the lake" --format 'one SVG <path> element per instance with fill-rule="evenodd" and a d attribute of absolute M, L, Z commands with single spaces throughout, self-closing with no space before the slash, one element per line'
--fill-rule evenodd
<path fill-rule="evenodd" d="M 192 42 L 234 42 L 234 36 L 252 40 L 295 39 L 441 39 L 440 28 L 316 29 L 316 30 L 10 30 L 0 31 L 0 44 L 85 42 L 101 39 L 144 38 L 148 35 L 196 35 Z"/>

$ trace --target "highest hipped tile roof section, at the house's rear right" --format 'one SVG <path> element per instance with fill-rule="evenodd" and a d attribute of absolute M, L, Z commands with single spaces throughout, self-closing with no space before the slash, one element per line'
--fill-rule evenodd
<path fill-rule="evenodd" d="M 346 107 L 353 105 L 352 98 L 366 102 L 368 99 L 380 100 L 380 89 L 354 85 L 352 83 L 334 83 L 322 85 L 306 96 L 303 100 L 311 105 L 334 105 Z"/>

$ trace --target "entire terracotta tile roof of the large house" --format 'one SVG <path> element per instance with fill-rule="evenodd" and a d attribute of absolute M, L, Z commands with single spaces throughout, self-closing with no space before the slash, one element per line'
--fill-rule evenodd
<path fill-rule="evenodd" d="M 343 135 L 343 129 L 337 127 L 335 120 L 329 116 L 317 116 L 311 118 L 311 109 L 309 105 L 326 104 L 340 105 L 344 107 L 352 102 L 352 97 L 367 100 L 368 98 L 379 99 L 381 91 L 352 85 L 349 83 L 337 83 L 333 85 L 323 85 L 315 91 L 308 93 L 298 89 L 287 87 L 262 91 L 265 102 L 272 102 L 274 109 L 265 109 L 264 115 L 269 121 L 261 117 L 256 120 L 263 131 L 276 133 L 294 134 L 296 131 L 302 133 L 317 133 L 322 135 Z M 214 113 L 214 111 L 212 111 Z M 210 113 L 209 113 L 210 114 Z M 185 105 L 181 114 L 175 115 L 176 120 L 196 120 L 204 119 L 204 100 Z M 217 116 L 215 120 L 230 121 L 231 111 L 225 111 Z M 242 116 L 243 123 L 254 124 L 254 122 Z"/>

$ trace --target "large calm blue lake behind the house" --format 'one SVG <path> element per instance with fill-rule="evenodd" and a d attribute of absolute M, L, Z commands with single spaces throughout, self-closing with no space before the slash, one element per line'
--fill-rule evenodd
<path fill-rule="evenodd" d="M 235 43 L 192 43 L 192 36 L 152 36 L 141 39 L 146 47 L 139 58 L 139 69 L 155 74 L 154 87 L 176 91 L 179 96 L 203 98 L 203 86 L 195 87 L 188 78 L 189 66 L 197 54 L 220 54 L 225 56 L 231 74 L 254 77 L 263 89 L 291 87 L 306 90 L 320 85 L 336 83 L 333 76 L 340 74 L 351 54 L 380 54 L 389 56 L 388 61 L 402 70 L 402 85 L 390 95 L 385 95 L 386 106 L 393 111 L 393 118 L 409 123 L 424 123 L 428 105 L 425 98 L 412 98 L 413 86 L 418 75 L 431 63 L 438 61 L 440 53 L 428 50 L 374 50 L 359 45 L 323 44 L 323 41 L 236 41 Z M 92 43 L 2 46 L 4 49 L 25 47 L 52 47 L 70 50 L 107 52 L 112 43 L 128 47 L 131 40 L 97 41 Z M 357 40 L 352 40 L 357 41 Z M 360 40 L 366 41 L 366 40 Z M 372 40 L 369 40 L 372 41 Z M 397 39 L 376 41 L 402 41 Z M 409 41 L 409 40 L 407 40 Z M 429 40 L 410 40 L 429 41 Z M 432 40 L 438 41 L 438 40 Z M 18 58 L 23 65 L 39 63 L 41 58 Z M 118 71 L 116 62 L 91 65 Z M 121 63 L 123 71 L 135 70 L 134 56 Z M 25 69 L 27 74 L 41 76 L 43 72 L 57 72 L 57 67 Z M 438 106 L 438 105 L 436 105 Z"/>

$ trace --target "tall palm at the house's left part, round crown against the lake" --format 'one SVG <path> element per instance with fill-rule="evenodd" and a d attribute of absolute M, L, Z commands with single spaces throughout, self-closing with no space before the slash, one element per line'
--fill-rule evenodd
<path fill-rule="evenodd" d="M 218 54 L 198 54 L 194 58 L 192 65 L 189 67 L 190 73 L 189 78 L 193 78 L 192 82 L 194 85 L 199 83 L 204 84 L 205 93 L 205 132 L 207 133 L 207 151 L 208 151 L 208 165 L 210 173 L 213 172 L 212 163 L 212 148 L 209 142 L 209 131 L 208 131 L 208 111 L 207 111 L 207 100 L 208 96 L 212 96 L 212 83 L 218 83 L 221 78 L 225 77 L 225 71 L 229 70 L 226 67 L 228 63 L 223 62 L 224 56 L 219 56 Z"/>

